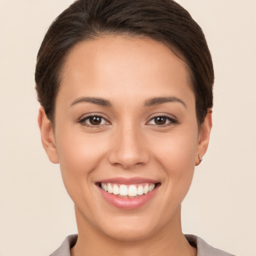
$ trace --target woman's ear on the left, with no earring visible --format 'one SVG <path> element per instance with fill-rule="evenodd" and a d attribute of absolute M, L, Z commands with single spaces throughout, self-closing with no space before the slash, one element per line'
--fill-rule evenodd
<path fill-rule="evenodd" d="M 39 108 L 37 121 L 41 132 L 42 146 L 48 155 L 49 160 L 53 163 L 58 163 L 54 132 L 51 122 L 45 114 L 42 106 Z"/>

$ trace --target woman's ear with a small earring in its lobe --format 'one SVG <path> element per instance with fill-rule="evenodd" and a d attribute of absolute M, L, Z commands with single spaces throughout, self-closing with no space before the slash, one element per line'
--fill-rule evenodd
<path fill-rule="evenodd" d="M 207 151 L 207 147 L 209 144 L 209 138 L 210 138 L 210 130 L 212 127 L 212 109 L 208 109 L 208 112 L 204 118 L 203 123 L 201 124 L 201 129 L 198 134 L 198 144 L 197 144 L 197 153 L 195 155 L 195 165 L 200 164 L 199 155 L 200 157 L 203 157 L 203 155 Z"/>

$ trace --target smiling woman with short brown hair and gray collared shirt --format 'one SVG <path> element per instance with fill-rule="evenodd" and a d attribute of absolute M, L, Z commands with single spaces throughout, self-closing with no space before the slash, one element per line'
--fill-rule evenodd
<path fill-rule="evenodd" d="M 172 0 L 77 0 L 54 20 L 37 56 L 38 123 L 78 236 L 52 255 L 230 255 L 180 221 L 213 78 L 200 27 Z"/>

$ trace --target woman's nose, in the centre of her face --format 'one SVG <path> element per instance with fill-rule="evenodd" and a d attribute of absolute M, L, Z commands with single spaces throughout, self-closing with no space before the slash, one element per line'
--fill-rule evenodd
<path fill-rule="evenodd" d="M 134 125 L 135 126 L 135 125 Z M 134 126 L 120 127 L 115 130 L 108 152 L 108 161 L 122 167 L 132 169 L 149 161 L 149 150 L 141 130 Z"/>

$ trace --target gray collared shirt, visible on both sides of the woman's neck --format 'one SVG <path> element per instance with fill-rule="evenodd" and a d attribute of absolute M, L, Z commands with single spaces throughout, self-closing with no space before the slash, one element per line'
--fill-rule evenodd
<path fill-rule="evenodd" d="M 233 254 L 227 253 L 223 250 L 213 248 L 196 235 L 185 234 L 185 237 L 192 246 L 197 248 L 196 256 L 234 256 Z M 68 235 L 60 247 L 57 248 L 49 256 L 70 256 L 70 248 L 74 246 L 76 240 L 77 234 Z"/>

